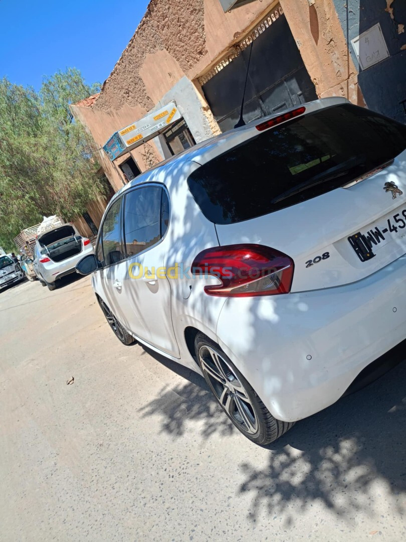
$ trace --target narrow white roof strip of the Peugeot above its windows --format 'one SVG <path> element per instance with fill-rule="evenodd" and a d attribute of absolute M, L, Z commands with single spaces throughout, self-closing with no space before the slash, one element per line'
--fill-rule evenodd
<path fill-rule="evenodd" d="M 279 111 L 278 113 L 269 115 L 268 117 L 261 117 L 260 119 L 248 122 L 245 126 L 233 128 L 233 130 L 229 130 L 210 139 L 206 139 L 205 141 L 202 141 L 201 143 L 198 143 L 197 145 L 194 145 L 193 147 L 190 147 L 189 149 L 186 149 L 185 151 L 176 154 L 167 160 L 163 160 L 163 162 L 160 162 L 149 170 L 141 173 L 141 175 L 137 176 L 135 179 L 123 186 L 118 192 L 116 192 L 112 198 L 112 201 L 116 199 L 116 197 L 119 197 L 123 192 L 133 188 L 134 186 L 151 182 L 153 180 L 161 180 L 159 178 L 162 178 L 162 175 L 158 175 L 158 173 L 162 173 L 162 169 L 172 169 L 174 166 L 179 167 L 187 162 L 195 162 L 200 165 L 209 162 L 209 160 L 213 159 L 215 156 L 219 156 L 219 154 L 222 154 L 227 150 L 232 149 L 234 146 L 243 143 L 245 140 L 251 139 L 255 135 L 258 135 L 259 132 L 256 129 L 258 124 L 263 124 L 263 122 L 266 122 L 267 120 L 277 118 L 283 113 L 294 111 L 294 109 L 297 109 L 298 107 L 305 107 L 305 112 L 303 114 L 306 115 L 313 113 L 318 109 L 349 103 L 349 100 L 346 98 L 320 98 L 319 100 L 313 100 L 311 102 L 307 102 L 306 104 L 301 104 L 300 106 L 296 105 L 289 109 L 285 109 L 284 111 Z"/>

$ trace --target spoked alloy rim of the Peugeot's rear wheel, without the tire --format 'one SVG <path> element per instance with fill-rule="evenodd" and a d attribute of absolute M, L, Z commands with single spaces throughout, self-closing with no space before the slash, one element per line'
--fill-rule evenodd
<path fill-rule="evenodd" d="M 258 419 L 248 393 L 226 360 L 210 346 L 200 347 L 199 359 L 214 395 L 241 430 L 250 435 L 258 432 Z"/>

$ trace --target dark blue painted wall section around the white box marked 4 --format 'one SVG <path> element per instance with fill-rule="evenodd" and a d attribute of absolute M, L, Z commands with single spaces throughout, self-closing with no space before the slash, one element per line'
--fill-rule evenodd
<path fill-rule="evenodd" d="M 405 0 L 333 2 L 356 66 L 358 60 L 351 40 L 376 23 L 381 25 L 390 56 L 364 71 L 359 68 L 359 85 L 370 109 L 406 122 Z"/>

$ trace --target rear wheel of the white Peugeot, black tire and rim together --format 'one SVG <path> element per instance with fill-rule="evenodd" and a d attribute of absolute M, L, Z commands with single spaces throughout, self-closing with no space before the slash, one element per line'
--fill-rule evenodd
<path fill-rule="evenodd" d="M 203 333 L 198 333 L 194 347 L 201 372 L 215 399 L 243 435 L 265 446 L 293 427 L 294 422 L 281 422 L 272 416 L 218 344 Z"/>

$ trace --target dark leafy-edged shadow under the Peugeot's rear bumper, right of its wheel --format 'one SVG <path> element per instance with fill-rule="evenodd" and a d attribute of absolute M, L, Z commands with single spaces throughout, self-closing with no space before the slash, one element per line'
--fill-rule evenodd
<path fill-rule="evenodd" d="M 260 509 L 286 512 L 317 501 L 338 515 L 371 507 L 375 492 L 393 498 L 405 512 L 406 363 L 361 391 L 294 425 L 270 444 L 265 467 L 243 462 L 240 493 L 253 497 L 250 516 Z M 378 486 L 381 488 L 378 489 Z"/>

